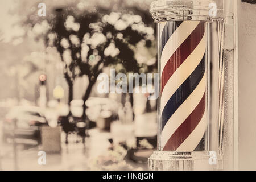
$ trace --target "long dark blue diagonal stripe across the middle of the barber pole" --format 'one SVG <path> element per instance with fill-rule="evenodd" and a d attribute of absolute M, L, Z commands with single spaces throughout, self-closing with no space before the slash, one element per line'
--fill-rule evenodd
<path fill-rule="evenodd" d="M 205 72 L 205 55 L 197 65 L 193 73 L 184 81 L 179 89 L 172 95 L 170 100 L 167 102 L 162 113 L 162 130 L 166 125 L 167 121 L 171 118 L 172 114 L 183 104 L 185 100 L 191 95 L 195 90 L 197 85 L 199 85 Z"/>

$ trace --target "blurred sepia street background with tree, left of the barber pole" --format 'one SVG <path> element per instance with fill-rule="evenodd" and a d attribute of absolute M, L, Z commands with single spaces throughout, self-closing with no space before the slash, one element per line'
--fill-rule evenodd
<path fill-rule="evenodd" d="M 0 170 L 147 169 L 151 2 L 0 1 Z"/>

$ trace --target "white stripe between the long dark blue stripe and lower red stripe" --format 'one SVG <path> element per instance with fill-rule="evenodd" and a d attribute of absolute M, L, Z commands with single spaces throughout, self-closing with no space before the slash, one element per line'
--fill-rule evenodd
<path fill-rule="evenodd" d="M 175 111 L 171 118 L 167 121 L 161 133 L 161 148 L 163 150 L 164 146 L 171 138 L 172 134 L 179 128 L 179 126 L 187 119 L 187 117 L 195 110 L 196 106 L 199 104 L 204 96 L 206 89 L 206 76 L 204 74 L 199 85 L 192 92 L 192 94 L 181 104 L 181 106 Z"/>

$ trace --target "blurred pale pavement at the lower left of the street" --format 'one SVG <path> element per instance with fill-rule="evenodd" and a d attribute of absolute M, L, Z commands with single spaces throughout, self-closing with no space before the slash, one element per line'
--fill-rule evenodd
<path fill-rule="evenodd" d="M 109 147 L 106 136 L 108 133 L 93 136 L 94 133 L 95 131 L 90 131 L 92 137 L 86 138 L 85 145 L 81 141 L 76 143 L 77 137 L 75 134 L 69 135 L 69 144 L 65 144 L 65 133 L 62 133 L 61 153 L 46 154 L 46 165 L 38 164 L 38 158 L 40 157 L 38 152 L 42 150 L 40 146 L 28 150 L 22 150 L 22 146 L 18 146 L 18 170 L 88 170 L 88 159 L 96 158 L 97 155 L 107 151 Z M 99 140 L 100 143 L 98 143 Z M 1 147 L 1 151 L 2 169 L 14 170 L 12 144 L 5 144 Z"/>

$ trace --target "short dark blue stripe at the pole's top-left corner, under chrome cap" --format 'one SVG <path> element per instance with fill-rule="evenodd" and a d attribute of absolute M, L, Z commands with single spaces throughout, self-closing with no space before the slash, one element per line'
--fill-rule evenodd
<path fill-rule="evenodd" d="M 162 51 L 164 46 L 166 46 L 167 41 L 170 39 L 172 34 L 174 34 L 175 30 L 180 26 L 182 21 L 178 22 L 167 22 L 166 25 L 164 26 L 162 36 L 161 36 L 161 50 L 160 50 L 160 55 L 162 55 Z"/>

